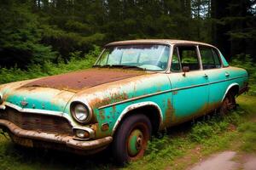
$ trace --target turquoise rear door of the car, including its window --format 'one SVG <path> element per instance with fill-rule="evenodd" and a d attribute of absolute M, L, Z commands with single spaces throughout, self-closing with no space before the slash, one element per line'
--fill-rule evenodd
<path fill-rule="evenodd" d="M 216 48 L 199 46 L 202 68 L 209 81 L 208 111 L 216 110 L 222 102 L 230 73 L 223 68 L 220 55 Z"/>

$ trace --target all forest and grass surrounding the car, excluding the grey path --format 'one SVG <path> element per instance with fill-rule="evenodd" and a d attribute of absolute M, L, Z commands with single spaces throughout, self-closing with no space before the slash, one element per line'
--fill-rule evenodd
<path fill-rule="evenodd" d="M 0 0 L 0 84 L 89 68 L 104 44 L 142 38 L 211 43 L 247 69 L 250 91 L 237 111 L 174 128 L 125 168 L 187 169 L 223 150 L 255 155 L 256 0 Z M 0 131 L 0 169 L 113 168 L 108 153 L 28 150 Z"/>

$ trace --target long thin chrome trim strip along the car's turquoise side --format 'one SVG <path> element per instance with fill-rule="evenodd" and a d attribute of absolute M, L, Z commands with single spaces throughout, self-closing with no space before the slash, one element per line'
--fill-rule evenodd
<path fill-rule="evenodd" d="M 101 109 L 104 109 L 104 108 L 107 108 L 107 107 L 111 107 L 113 105 L 120 105 L 120 104 L 123 104 L 123 103 L 126 103 L 126 102 L 130 102 L 130 101 L 133 101 L 133 100 L 148 98 L 148 97 L 151 97 L 151 96 L 154 96 L 154 95 L 159 95 L 159 94 L 166 94 L 166 93 L 173 92 L 173 91 L 179 91 L 179 90 L 189 89 L 189 88 L 197 88 L 197 87 L 201 87 L 201 86 L 207 86 L 207 85 L 215 84 L 215 83 L 218 83 L 218 82 L 228 82 L 228 81 L 235 80 L 235 79 L 238 79 L 238 78 L 242 78 L 242 77 L 234 77 L 234 78 L 220 80 L 220 81 L 216 81 L 216 82 L 206 82 L 206 83 L 202 83 L 202 84 L 198 84 L 198 85 L 192 85 L 192 86 L 187 86 L 187 87 L 183 87 L 183 88 L 172 88 L 172 89 L 169 89 L 169 90 L 164 90 L 164 91 L 161 91 L 161 92 L 156 92 L 154 94 L 145 94 L 145 95 L 137 96 L 137 97 L 134 97 L 134 98 L 131 98 L 131 99 L 125 99 L 123 101 L 115 102 L 113 104 L 103 105 L 101 107 L 98 107 L 98 109 L 101 110 Z"/>

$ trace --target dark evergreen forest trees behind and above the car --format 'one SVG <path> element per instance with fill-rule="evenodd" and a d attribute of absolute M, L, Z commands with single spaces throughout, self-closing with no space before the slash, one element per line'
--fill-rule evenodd
<path fill-rule="evenodd" d="M 83 58 L 94 44 L 138 38 L 213 42 L 228 58 L 254 58 L 253 6 L 250 0 L 1 0 L 0 66 L 57 63 L 76 51 Z"/>

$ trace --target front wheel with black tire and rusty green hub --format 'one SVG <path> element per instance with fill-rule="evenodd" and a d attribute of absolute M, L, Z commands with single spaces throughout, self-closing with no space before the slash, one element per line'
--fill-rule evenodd
<path fill-rule="evenodd" d="M 124 165 L 143 157 L 151 130 L 151 122 L 147 116 L 137 114 L 126 117 L 114 135 L 114 161 Z"/>

